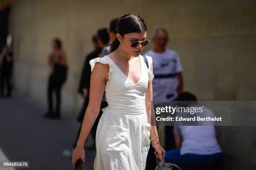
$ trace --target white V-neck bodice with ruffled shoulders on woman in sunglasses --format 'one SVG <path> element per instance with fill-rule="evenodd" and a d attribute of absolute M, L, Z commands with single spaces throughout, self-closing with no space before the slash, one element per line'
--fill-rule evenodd
<path fill-rule="evenodd" d="M 148 82 L 154 79 L 154 74 L 148 69 L 143 60 L 143 56 L 139 55 L 141 64 L 141 78 L 138 82 L 133 83 L 120 70 L 115 62 L 105 55 L 90 60 L 91 71 L 96 62 L 108 64 L 110 69 L 108 72 L 108 82 L 105 86 L 105 97 L 110 109 L 125 114 L 141 114 L 146 112 L 145 98 Z M 148 66 L 151 67 L 152 58 L 146 56 Z M 106 107 L 105 107 L 106 108 Z M 102 111 L 105 110 L 102 109 Z"/>

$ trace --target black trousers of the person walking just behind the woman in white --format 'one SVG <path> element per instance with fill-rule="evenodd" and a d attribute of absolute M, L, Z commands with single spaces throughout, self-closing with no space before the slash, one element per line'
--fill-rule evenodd
<path fill-rule="evenodd" d="M 83 105 L 83 107 L 81 109 L 81 112 L 80 112 L 80 115 L 79 115 L 79 118 L 77 119 L 78 121 L 79 120 L 82 120 L 82 121 L 79 121 L 79 122 L 81 122 L 81 125 L 80 125 L 80 127 L 79 127 L 79 129 L 77 131 L 77 138 L 76 138 L 76 141 L 73 144 L 73 148 L 75 148 L 77 146 L 77 140 L 79 138 L 79 135 L 80 135 L 80 132 L 81 132 L 81 129 L 82 129 L 82 122 L 83 122 L 83 118 L 84 118 L 84 113 L 85 113 L 85 111 L 87 109 L 88 103 L 89 103 L 89 98 L 85 99 L 84 105 Z M 101 102 L 99 115 L 96 118 L 96 120 L 95 120 L 95 122 L 94 122 L 94 124 L 92 126 L 91 132 L 92 132 L 92 138 L 93 138 L 94 142 L 96 140 L 97 126 L 98 126 L 98 123 L 100 121 L 100 117 L 101 117 L 101 115 L 103 113 L 101 109 L 104 108 L 104 107 L 107 107 L 107 106 L 108 106 L 108 102 Z M 82 113 L 83 113 L 83 115 L 82 115 Z"/>

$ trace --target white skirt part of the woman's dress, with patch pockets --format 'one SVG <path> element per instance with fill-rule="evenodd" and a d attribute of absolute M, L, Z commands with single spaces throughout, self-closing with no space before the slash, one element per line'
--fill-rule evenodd
<path fill-rule="evenodd" d="M 146 110 L 142 114 L 124 114 L 109 107 L 102 110 L 94 170 L 145 170 L 151 128 Z"/>

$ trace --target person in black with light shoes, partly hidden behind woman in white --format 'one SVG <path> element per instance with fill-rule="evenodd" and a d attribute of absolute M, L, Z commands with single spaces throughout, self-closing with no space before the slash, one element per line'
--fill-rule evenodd
<path fill-rule="evenodd" d="M 101 29 L 98 30 L 97 35 L 94 36 L 94 38 L 97 37 L 97 45 L 95 45 L 95 50 L 93 52 L 91 52 L 90 54 L 87 55 L 86 60 L 84 62 L 84 67 L 82 70 L 82 75 L 81 75 L 81 79 L 80 79 L 80 83 L 79 83 L 79 88 L 78 88 L 78 92 L 80 95 L 82 95 L 84 97 L 84 104 L 81 108 L 81 111 L 77 117 L 77 121 L 81 123 L 78 131 L 77 131 L 77 137 L 76 140 L 72 146 L 72 148 L 66 149 L 62 152 L 62 156 L 65 158 L 71 158 L 74 148 L 76 148 L 77 146 L 77 140 L 79 138 L 80 135 L 80 131 L 82 128 L 82 122 L 84 119 L 84 113 L 86 111 L 86 108 L 89 104 L 89 95 L 90 95 L 90 79 L 91 79 L 91 66 L 89 61 L 96 58 L 96 57 L 102 57 L 102 48 L 105 47 L 106 45 L 108 45 L 108 41 L 109 41 L 109 35 L 108 35 L 108 30 L 107 29 Z M 95 44 L 95 43 L 94 43 Z M 101 109 L 106 107 L 108 105 L 108 103 L 105 101 L 105 96 L 102 99 L 102 103 L 101 103 Z M 100 114 L 97 117 L 97 120 L 95 121 L 94 125 L 92 126 L 92 138 L 95 141 L 96 138 L 96 130 L 97 130 L 97 124 L 100 120 L 100 116 L 102 115 L 102 110 L 100 109 Z M 88 149 L 95 149 L 95 144 L 93 144 L 92 146 L 90 146 Z"/>

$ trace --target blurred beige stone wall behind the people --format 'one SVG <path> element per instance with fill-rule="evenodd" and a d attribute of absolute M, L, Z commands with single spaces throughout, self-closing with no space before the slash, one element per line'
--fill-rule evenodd
<path fill-rule="evenodd" d="M 76 117 L 82 104 L 79 76 L 92 50 L 91 37 L 125 13 L 145 20 L 149 39 L 156 28 L 169 31 L 168 47 L 179 53 L 184 68 L 184 90 L 200 100 L 256 100 L 255 0 L 16 1 L 10 13 L 15 90 L 46 105 L 47 55 L 52 38 L 60 37 L 69 65 L 62 110 Z M 152 47 L 149 43 L 144 51 Z M 255 169 L 256 128 L 220 129 L 227 169 Z"/>

